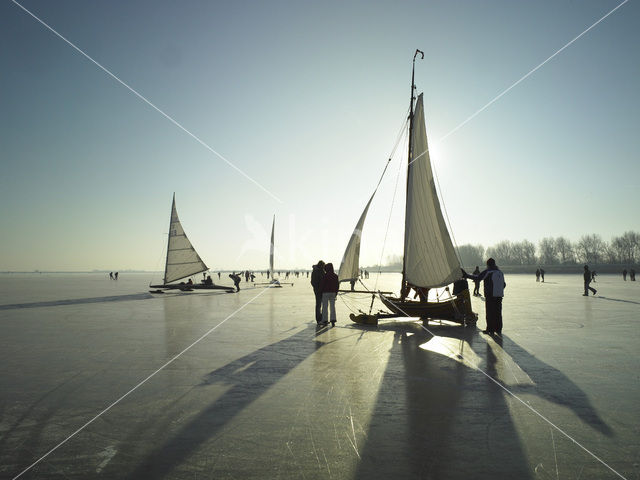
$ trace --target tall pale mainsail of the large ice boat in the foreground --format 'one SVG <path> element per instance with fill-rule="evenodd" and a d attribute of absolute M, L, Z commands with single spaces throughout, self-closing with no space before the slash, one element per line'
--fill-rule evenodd
<path fill-rule="evenodd" d="M 411 152 L 405 218 L 405 279 L 417 287 L 442 287 L 461 278 L 460 262 L 436 194 L 422 94 L 418 96 L 413 117 Z"/>

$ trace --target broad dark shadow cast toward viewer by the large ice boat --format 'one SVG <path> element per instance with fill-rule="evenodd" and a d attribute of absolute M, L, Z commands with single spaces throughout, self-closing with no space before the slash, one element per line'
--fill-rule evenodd
<path fill-rule="evenodd" d="M 379 329 L 394 341 L 356 478 L 532 477 L 504 391 L 466 363 L 475 329 Z"/>

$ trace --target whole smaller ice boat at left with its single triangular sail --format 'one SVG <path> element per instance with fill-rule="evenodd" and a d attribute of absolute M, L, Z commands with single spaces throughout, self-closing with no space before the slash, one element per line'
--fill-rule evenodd
<path fill-rule="evenodd" d="M 178 289 L 183 291 L 191 290 L 225 290 L 227 292 L 235 292 L 232 287 L 224 287 L 215 285 L 209 279 L 203 280 L 201 283 L 172 283 L 206 272 L 209 267 L 196 252 L 193 245 L 184 233 L 178 212 L 176 210 L 176 195 L 173 194 L 173 202 L 171 204 L 171 220 L 169 221 L 169 239 L 167 242 L 167 260 L 164 267 L 164 278 L 162 285 L 150 285 L 151 288 L 162 289 Z"/>

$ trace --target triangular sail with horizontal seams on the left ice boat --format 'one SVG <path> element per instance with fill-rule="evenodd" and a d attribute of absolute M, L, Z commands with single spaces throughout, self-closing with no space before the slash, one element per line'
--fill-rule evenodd
<path fill-rule="evenodd" d="M 208 267 L 191 245 L 180 224 L 176 211 L 176 197 L 171 204 L 171 222 L 169 223 L 169 244 L 167 263 L 164 270 L 164 283 L 175 282 L 181 278 L 204 272 Z"/>

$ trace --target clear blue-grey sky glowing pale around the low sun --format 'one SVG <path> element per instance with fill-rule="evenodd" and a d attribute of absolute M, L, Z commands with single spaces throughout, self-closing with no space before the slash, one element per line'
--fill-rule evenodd
<path fill-rule="evenodd" d="M 416 49 L 458 245 L 640 231 L 640 2 L 527 76 L 621 3 L 19 1 L 109 74 L 4 0 L 0 271 L 162 270 L 174 193 L 211 269 L 267 268 L 273 215 L 276 269 L 339 264 Z M 406 139 L 361 265 L 402 253 L 405 175 Z"/>

